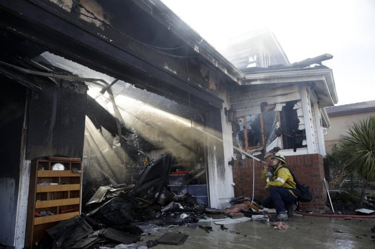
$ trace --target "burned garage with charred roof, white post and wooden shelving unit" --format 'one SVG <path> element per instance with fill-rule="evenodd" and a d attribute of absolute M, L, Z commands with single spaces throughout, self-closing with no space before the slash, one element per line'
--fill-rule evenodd
<path fill-rule="evenodd" d="M 87 209 L 102 186 L 134 185 L 146 203 L 159 197 L 145 193 L 153 184 L 162 195 L 193 183 L 195 202 L 213 208 L 233 197 L 224 187 L 232 149 L 222 142 L 231 133 L 222 131 L 230 131 L 227 86 L 243 74 L 162 3 L 6 1 L 1 16 L 9 48 L 1 130 L 13 138 L 2 139 L 10 155 L 2 165 L 14 166 L 1 174 L 1 198 L 10 200 L 1 205 L 1 244 L 32 243 L 30 234 Z M 166 155 L 163 172 L 141 176 Z M 53 172 L 57 163 L 82 177 Z"/>

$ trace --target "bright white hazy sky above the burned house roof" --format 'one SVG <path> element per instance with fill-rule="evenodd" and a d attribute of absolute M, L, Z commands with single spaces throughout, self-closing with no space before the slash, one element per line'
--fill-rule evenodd
<path fill-rule="evenodd" d="M 336 105 L 375 100 L 375 0 L 162 1 L 220 53 L 269 29 L 291 63 L 332 54 Z"/>

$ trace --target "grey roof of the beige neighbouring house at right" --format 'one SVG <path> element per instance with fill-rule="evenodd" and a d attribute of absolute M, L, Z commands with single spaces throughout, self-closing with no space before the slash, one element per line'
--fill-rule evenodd
<path fill-rule="evenodd" d="M 375 100 L 327 107 L 326 111 L 329 116 L 371 112 L 375 111 Z"/>

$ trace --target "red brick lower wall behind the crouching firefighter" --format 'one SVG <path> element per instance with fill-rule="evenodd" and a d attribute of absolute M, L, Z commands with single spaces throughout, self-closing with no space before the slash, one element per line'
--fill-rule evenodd
<path fill-rule="evenodd" d="M 323 186 L 324 166 L 320 154 L 292 155 L 285 157 L 288 167 L 294 172 L 298 181 L 310 187 L 312 201 L 301 203 L 303 210 L 325 211 L 327 194 Z M 242 163 L 238 165 L 238 162 Z M 253 159 L 236 160 L 232 166 L 235 195 L 252 196 Z M 261 180 L 263 165 L 255 161 L 254 199 L 261 201 L 269 194 L 265 191 L 266 183 Z"/>

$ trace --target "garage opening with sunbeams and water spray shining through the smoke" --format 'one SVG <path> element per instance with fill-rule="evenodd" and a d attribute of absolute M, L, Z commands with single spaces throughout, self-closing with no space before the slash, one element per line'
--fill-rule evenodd
<path fill-rule="evenodd" d="M 171 155 L 170 163 L 161 167 L 168 171 L 166 190 L 177 196 L 192 195 L 196 203 L 208 205 L 207 139 L 199 132 L 207 124 L 205 110 L 139 89 L 48 52 L 40 59 L 79 77 L 101 78 L 110 85 L 85 82 L 88 91 L 83 211 L 95 206 L 86 204 L 96 202 L 92 197 L 100 187 L 137 186 L 147 167 L 167 154 Z M 158 172 L 146 173 L 142 178 L 145 183 L 147 177 L 150 182 L 152 174 Z"/>

